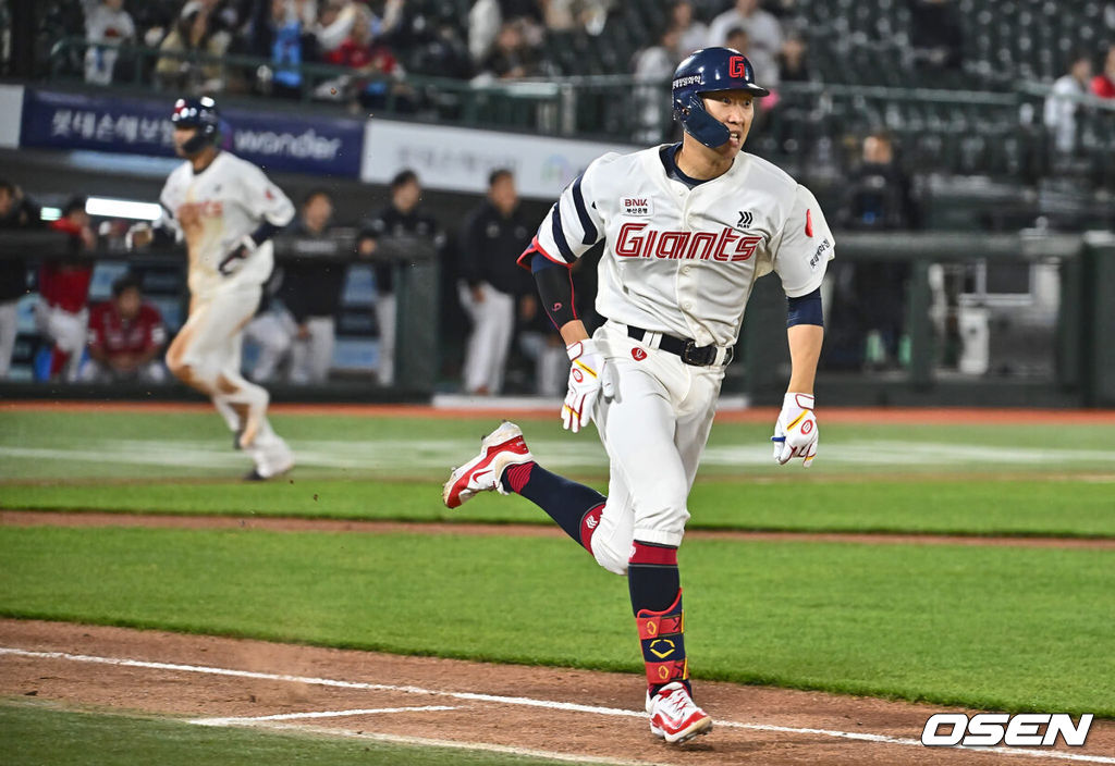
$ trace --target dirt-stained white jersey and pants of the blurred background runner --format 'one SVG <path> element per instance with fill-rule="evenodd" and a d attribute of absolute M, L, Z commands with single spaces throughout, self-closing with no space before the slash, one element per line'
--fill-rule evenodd
<path fill-rule="evenodd" d="M 240 374 L 242 331 L 255 314 L 262 285 L 274 265 L 273 246 L 264 242 L 242 261 L 219 269 L 224 257 L 266 220 L 285 226 L 294 206 L 263 171 L 221 151 L 201 173 L 185 161 L 166 179 L 159 195 L 162 224 L 185 239 L 190 253 L 190 318 L 182 363 L 213 391 L 213 403 L 234 432 L 245 425 L 249 409 L 265 410 L 268 393 Z M 178 343 L 178 338 L 176 338 Z M 172 346 L 173 347 L 173 346 Z M 263 477 L 285 470 L 292 461 L 287 443 L 265 416 L 248 448 Z"/>

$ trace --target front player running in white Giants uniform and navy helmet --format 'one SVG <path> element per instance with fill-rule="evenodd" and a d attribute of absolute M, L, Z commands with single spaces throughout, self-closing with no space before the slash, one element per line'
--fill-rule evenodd
<path fill-rule="evenodd" d="M 650 730 L 668 743 L 706 734 L 685 648 L 678 546 L 726 365 L 755 279 L 772 271 L 788 299 L 793 370 L 774 428 L 778 463 L 817 451 L 813 381 L 824 336 L 820 286 L 833 236 L 816 199 L 741 151 L 754 117 L 750 62 L 706 48 L 673 76 L 680 144 L 609 154 L 562 193 L 520 258 L 572 360 L 562 424 L 595 421 L 610 461 L 608 497 L 539 465 L 505 422 L 445 484 L 446 505 L 516 492 L 540 505 L 600 566 L 627 574 L 647 669 Z M 604 239 L 589 337 L 569 265 Z"/>

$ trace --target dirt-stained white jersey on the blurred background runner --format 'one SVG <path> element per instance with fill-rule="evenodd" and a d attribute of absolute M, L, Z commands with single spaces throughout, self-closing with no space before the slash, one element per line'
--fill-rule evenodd
<path fill-rule="evenodd" d="M 188 245 L 190 292 L 195 297 L 266 282 L 274 266 L 270 242 L 242 263 L 232 264 L 227 276 L 217 266 L 264 220 L 285 226 L 294 217 L 294 206 L 282 189 L 260 168 L 227 151 L 220 153 L 201 173 L 194 173 L 188 161 L 178 166 L 166 179 L 159 203 L 162 224 Z M 200 227 L 191 225 L 194 217 Z M 187 230 L 191 228 L 193 233 Z"/>

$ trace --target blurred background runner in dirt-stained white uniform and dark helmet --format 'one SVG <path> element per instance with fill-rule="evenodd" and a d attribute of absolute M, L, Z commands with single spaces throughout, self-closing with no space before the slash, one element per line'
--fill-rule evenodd
<path fill-rule="evenodd" d="M 212 98 L 178 99 L 171 115 L 174 146 L 185 163 L 166 179 L 156 236 L 185 239 L 190 256 L 190 317 L 166 352 L 166 366 L 207 394 L 251 455 L 249 480 L 294 465 L 290 448 L 266 419 L 268 392 L 240 374 L 242 331 L 274 264 L 271 237 L 294 206 L 258 167 L 222 151 Z M 149 242 L 136 233 L 133 242 Z"/>

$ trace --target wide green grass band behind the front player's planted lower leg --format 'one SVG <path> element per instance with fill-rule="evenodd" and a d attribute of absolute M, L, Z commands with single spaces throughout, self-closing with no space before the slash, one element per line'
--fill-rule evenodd
<path fill-rule="evenodd" d="M 0 528 L 0 550 L 13 617 L 641 669 L 626 582 L 566 540 Z M 1115 716 L 1109 551 L 694 540 L 680 559 L 698 677 Z"/>

